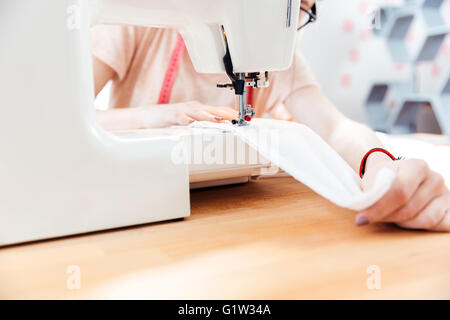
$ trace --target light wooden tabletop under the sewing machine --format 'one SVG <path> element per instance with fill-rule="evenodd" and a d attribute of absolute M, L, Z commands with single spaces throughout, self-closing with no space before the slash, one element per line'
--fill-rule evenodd
<path fill-rule="evenodd" d="M 0 249 L 0 297 L 450 298 L 450 234 L 356 227 L 292 178 L 191 198 L 185 220 Z"/>

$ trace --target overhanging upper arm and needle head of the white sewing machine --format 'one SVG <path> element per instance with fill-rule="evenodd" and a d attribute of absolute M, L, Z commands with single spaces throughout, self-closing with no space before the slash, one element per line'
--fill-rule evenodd
<path fill-rule="evenodd" d="M 299 0 L 96 0 L 95 4 L 94 23 L 176 28 L 197 72 L 225 73 L 222 26 L 234 72 L 283 70 L 292 62 Z"/>

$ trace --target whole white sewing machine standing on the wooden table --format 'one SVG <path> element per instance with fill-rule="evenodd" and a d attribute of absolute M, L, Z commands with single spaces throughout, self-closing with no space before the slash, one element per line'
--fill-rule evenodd
<path fill-rule="evenodd" d="M 180 135 L 99 128 L 93 23 L 178 29 L 198 72 L 229 75 L 236 124 L 245 125 L 253 115 L 246 86 L 266 86 L 266 71 L 291 64 L 299 7 L 300 0 L 2 0 L 0 245 L 186 217 L 189 176 L 214 184 L 262 167 L 176 163 Z"/>

